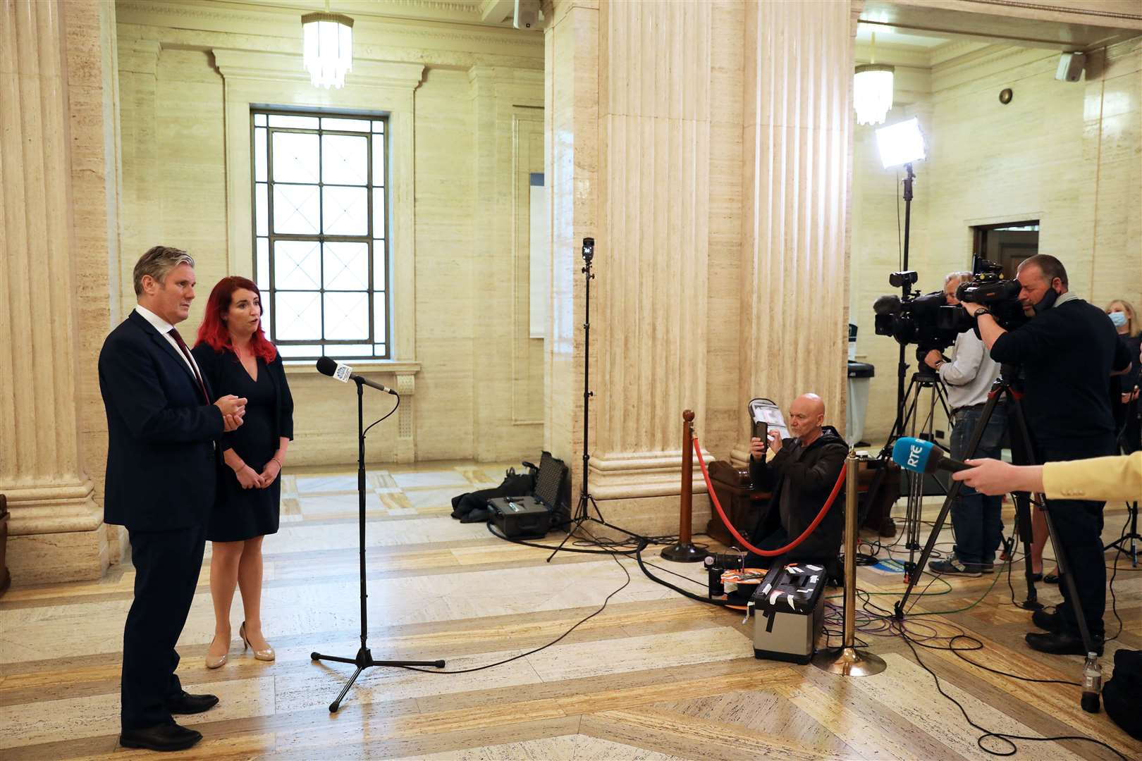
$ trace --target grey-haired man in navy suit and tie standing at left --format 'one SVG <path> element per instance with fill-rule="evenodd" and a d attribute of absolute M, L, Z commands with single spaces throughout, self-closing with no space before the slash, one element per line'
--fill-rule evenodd
<path fill-rule="evenodd" d="M 194 299 L 194 260 L 154 246 L 135 265 L 138 306 L 99 353 L 99 391 L 107 411 L 104 521 L 127 527 L 135 600 L 123 628 L 121 683 L 124 747 L 179 751 L 202 735 L 172 714 L 218 703 L 190 695 L 175 675 L 175 645 L 202 567 L 206 524 L 215 497 L 215 440 L 235 430 L 246 399 L 210 403 L 185 341 L 175 329 Z"/>

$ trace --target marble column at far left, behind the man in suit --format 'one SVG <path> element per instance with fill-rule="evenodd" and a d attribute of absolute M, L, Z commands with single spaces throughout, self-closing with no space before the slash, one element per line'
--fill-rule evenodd
<path fill-rule="evenodd" d="M 105 3 L 70 7 L 79 5 L 0 5 L 0 346 L 8 350 L 8 371 L 0 373 L 0 492 L 11 511 L 8 565 L 16 584 L 97 578 L 108 562 L 83 439 L 98 448 L 100 423 L 85 413 L 95 378 L 91 334 L 102 340 L 107 326 L 112 212 L 102 193 L 77 204 L 74 178 L 103 177 L 107 167 L 106 143 L 89 138 L 106 135 L 102 72 L 114 16 Z M 113 131 L 111 143 L 113 155 Z M 80 155 L 89 148 L 94 163 Z M 94 251 L 83 250 L 93 242 Z M 98 283 L 100 272 L 102 293 L 91 293 L 87 277 Z M 102 462 L 103 452 L 93 455 Z"/>

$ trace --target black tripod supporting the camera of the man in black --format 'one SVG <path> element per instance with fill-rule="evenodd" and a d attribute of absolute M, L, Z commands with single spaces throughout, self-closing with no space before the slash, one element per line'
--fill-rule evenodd
<path fill-rule="evenodd" d="M 1034 450 L 1031 448 L 1031 435 L 1027 428 L 1027 419 L 1023 416 L 1023 408 L 1020 405 L 1021 394 L 1013 388 L 1015 373 L 1018 371 L 1011 365 L 1003 365 L 999 371 L 999 378 L 991 386 L 991 390 L 988 391 L 988 402 L 983 406 L 983 413 L 980 415 L 980 421 L 975 424 L 975 430 L 972 431 L 972 439 L 968 444 L 967 451 L 975 452 L 975 447 L 979 446 L 980 439 L 983 438 L 983 431 L 991 420 L 991 415 L 995 412 L 996 405 L 999 403 L 1000 397 L 1004 398 L 1007 405 L 1007 420 L 1008 434 L 1011 435 L 1012 444 L 1012 459 L 1018 464 L 1035 464 Z M 940 536 L 940 529 L 943 528 L 943 523 L 948 518 L 948 512 L 951 510 L 952 503 L 959 495 L 959 489 L 963 486 L 963 481 L 954 480 L 951 488 L 948 489 L 948 496 L 943 501 L 943 507 L 940 509 L 940 515 L 936 516 L 935 523 L 932 526 L 932 533 L 928 534 L 927 542 L 924 544 L 924 551 L 920 553 L 920 561 L 916 568 L 916 574 L 908 580 L 908 588 L 904 590 L 903 597 L 895 604 L 895 618 L 902 621 L 904 617 L 904 605 L 908 602 L 908 598 L 912 593 L 912 589 L 916 588 L 916 583 L 919 581 L 920 574 L 924 573 L 924 568 L 927 566 L 928 557 L 932 554 L 932 549 L 935 547 L 936 539 Z M 1091 637 L 1091 631 L 1086 625 L 1086 617 L 1083 615 L 1081 601 L 1078 597 L 1078 589 L 1075 585 L 1073 574 L 1067 573 L 1070 566 L 1062 544 L 1059 541 L 1059 534 L 1055 532 L 1054 520 L 1051 517 L 1051 509 L 1047 505 L 1046 497 L 1043 494 L 1037 494 L 1037 503 L 1042 505 L 1043 515 L 1047 519 L 1047 529 L 1051 532 L 1051 542 L 1055 549 L 1055 560 L 1059 564 L 1059 577 L 1061 584 L 1067 584 L 1068 596 L 1070 598 L 1070 604 L 1075 608 L 1075 618 L 1078 622 L 1079 635 L 1083 638 L 1083 647 L 1087 653 L 1094 653 L 1097 648 Z M 1028 599 L 1023 602 L 1021 607 L 1023 608 L 1042 608 L 1043 606 L 1038 604 L 1035 594 L 1035 583 L 1031 574 L 1031 520 L 1030 520 L 1030 495 L 1027 493 L 1015 494 L 1015 524 L 1019 531 L 1020 539 L 1023 541 L 1023 552 L 1024 552 L 1024 572 L 1027 576 L 1027 594 Z"/>

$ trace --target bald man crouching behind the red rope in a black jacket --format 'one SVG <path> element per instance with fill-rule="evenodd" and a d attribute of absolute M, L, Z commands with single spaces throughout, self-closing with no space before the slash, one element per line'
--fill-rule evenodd
<path fill-rule="evenodd" d="M 770 508 L 750 534 L 753 544 L 775 550 L 801 536 L 837 483 L 849 454 L 849 445 L 833 426 L 825 422 L 825 403 L 815 394 L 797 397 L 789 407 L 789 432 L 781 439 L 771 430 L 769 442 L 750 440 L 749 476 L 755 491 L 773 494 Z M 829 513 L 788 558 L 826 566 L 830 577 L 841 576 L 841 534 L 844 531 L 843 494 L 838 494 Z M 750 553 L 746 566 L 769 568 L 777 558 Z"/>

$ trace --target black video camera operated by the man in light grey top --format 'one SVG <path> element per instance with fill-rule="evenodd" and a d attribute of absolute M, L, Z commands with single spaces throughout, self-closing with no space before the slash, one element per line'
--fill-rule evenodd
<path fill-rule="evenodd" d="M 956 342 L 956 335 L 972 325 L 959 327 L 949 319 L 950 315 L 943 311 L 949 308 L 943 291 L 910 291 L 917 280 L 912 270 L 888 275 L 888 284 L 903 289 L 903 294 L 882 296 L 872 302 L 874 330 L 877 335 L 891 335 L 902 346 L 916 343 L 916 357 L 923 362 L 928 351 L 947 349 Z M 964 316 L 967 317 L 966 311 Z"/>

